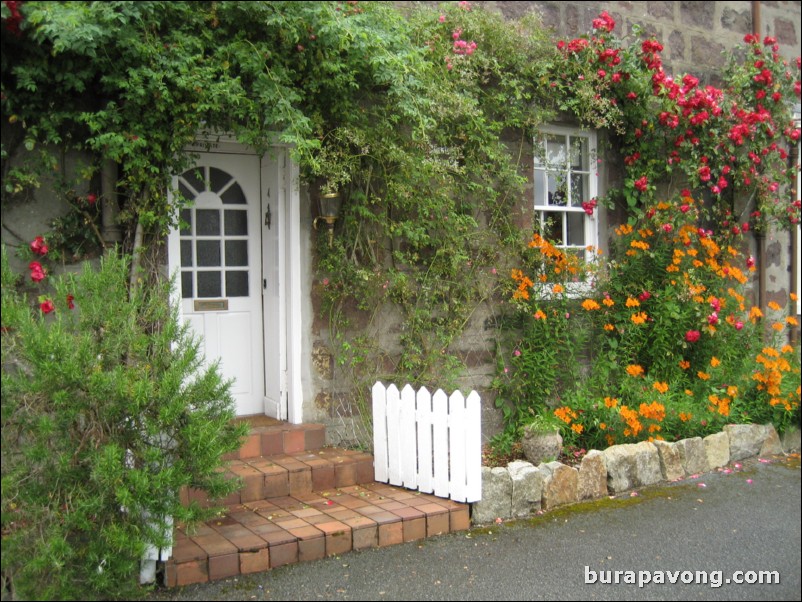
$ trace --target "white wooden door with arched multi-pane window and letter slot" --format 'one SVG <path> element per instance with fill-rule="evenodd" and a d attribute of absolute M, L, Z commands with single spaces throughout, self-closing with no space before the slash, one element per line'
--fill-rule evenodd
<path fill-rule="evenodd" d="M 192 205 L 171 235 L 170 268 L 180 270 L 183 317 L 203 340 L 206 361 L 220 360 L 234 381 L 237 414 L 265 412 L 262 170 L 256 155 L 203 153 L 175 178 Z"/>

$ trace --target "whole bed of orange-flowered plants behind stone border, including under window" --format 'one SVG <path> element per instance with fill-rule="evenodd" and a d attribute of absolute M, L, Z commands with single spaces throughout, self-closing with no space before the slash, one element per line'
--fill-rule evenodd
<path fill-rule="evenodd" d="M 554 412 L 587 449 L 798 420 L 799 348 L 783 344 L 795 319 L 749 304 L 743 234 L 700 228 L 699 205 L 683 191 L 617 228 L 612 260 L 573 298 L 549 294 L 567 286 L 562 256 L 535 236 L 539 271 L 513 274 L 527 326 L 504 392 L 525 392 L 519 409 Z"/>

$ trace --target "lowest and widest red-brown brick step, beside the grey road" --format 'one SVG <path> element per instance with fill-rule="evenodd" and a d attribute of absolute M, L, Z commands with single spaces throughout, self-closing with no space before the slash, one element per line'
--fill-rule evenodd
<path fill-rule="evenodd" d="M 375 482 L 240 502 L 194 530 L 176 528 L 165 585 L 205 583 L 469 527 L 467 504 Z"/>

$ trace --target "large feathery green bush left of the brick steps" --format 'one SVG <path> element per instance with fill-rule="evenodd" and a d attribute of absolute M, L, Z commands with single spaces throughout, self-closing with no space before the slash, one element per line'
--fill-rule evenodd
<path fill-rule="evenodd" d="M 167 284 L 129 296 L 128 270 L 109 255 L 31 304 L 3 247 L 2 566 L 20 598 L 134 595 L 145 547 L 171 543 L 166 519 L 207 512 L 181 487 L 237 486 L 220 472 L 243 434 L 229 384 L 203 368 Z M 31 262 L 37 289 L 44 276 Z"/>

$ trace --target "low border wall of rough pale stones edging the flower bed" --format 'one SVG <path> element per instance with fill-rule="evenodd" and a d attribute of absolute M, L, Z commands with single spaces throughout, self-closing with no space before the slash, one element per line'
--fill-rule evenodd
<path fill-rule="evenodd" d="M 785 447 L 799 447 L 799 431 L 786 440 Z M 774 426 L 731 424 L 704 439 L 642 441 L 591 450 L 578 468 L 560 462 L 482 467 L 482 501 L 473 504 L 471 520 L 482 524 L 526 518 L 566 504 L 709 472 L 753 456 L 782 453 Z"/>

